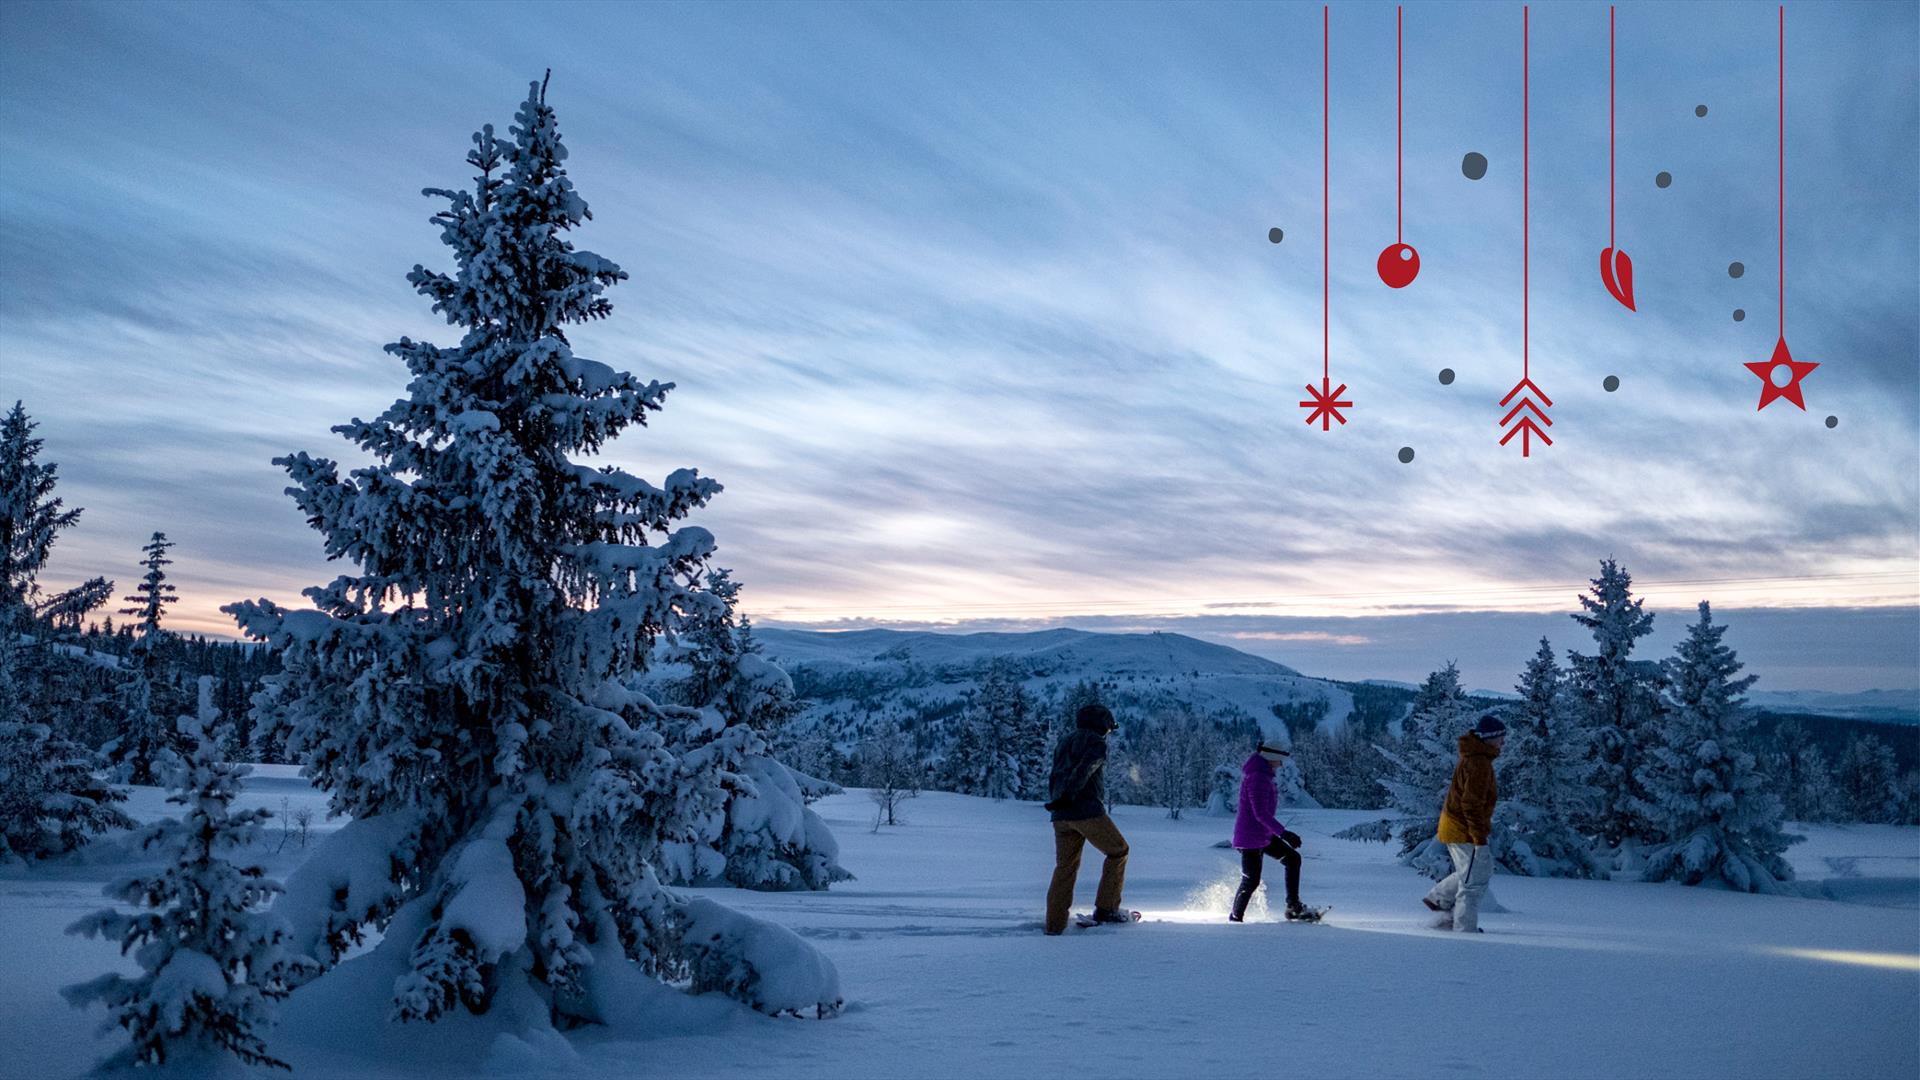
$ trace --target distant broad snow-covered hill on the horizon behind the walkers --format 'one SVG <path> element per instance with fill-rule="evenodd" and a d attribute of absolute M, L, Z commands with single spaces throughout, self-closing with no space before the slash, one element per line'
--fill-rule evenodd
<path fill-rule="evenodd" d="M 906 630 L 756 630 L 768 657 L 793 675 L 806 717 L 845 724 L 881 707 L 939 713 L 977 690 L 989 661 L 1018 665 L 1025 688 L 1058 698 L 1096 682 L 1116 707 L 1150 711 L 1181 701 L 1204 713 L 1240 713 L 1279 732 L 1273 705 L 1325 698 L 1340 724 L 1352 696 L 1271 659 L 1183 634 L 931 634 Z M 806 723 L 806 719 L 803 719 Z"/>

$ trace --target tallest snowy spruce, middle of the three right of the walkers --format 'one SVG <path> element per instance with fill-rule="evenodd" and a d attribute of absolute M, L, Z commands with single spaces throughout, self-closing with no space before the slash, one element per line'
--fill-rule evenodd
<path fill-rule="evenodd" d="M 1607 847 L 1647 838 L 1640 815 L 1644 792 L 1636 773 L 1640 744 L 1659 717 L 1661 669 L 1653 661 L 1632 659 L 1634 642 L 1653 632 L 1653 615 L 1634 598 L 1634 578 L 1613 559 L 1599 563 L 1599 577 L 1580 596 L 1572 615 L 1594 634 L 1594 653 L 1569 651 L 1569 696 L 1574 724 L 1571 732 L 1590 746 L 1588 780 L 1599 792 L 1592 815 L 1580 830 Z"/>

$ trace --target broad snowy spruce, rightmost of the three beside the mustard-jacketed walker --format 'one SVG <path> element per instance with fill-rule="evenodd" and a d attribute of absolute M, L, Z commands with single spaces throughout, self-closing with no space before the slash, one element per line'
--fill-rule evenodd
<path fill-rule="evenodd" d="M 1774 892 L 1791 880 L 1780 857 L 1799 836 L 1780 832 L 1780 796 L 1755 765 L 1753 713 L 1743 694 L 1753 675 L 1720 638 L 1703 600 L 1699 621 L 1667 661 L 1665 719 L 1640 763 L 1642 813 L 1657 830 L 1645 880 L 1716 880 L 1741 892 Z"/>

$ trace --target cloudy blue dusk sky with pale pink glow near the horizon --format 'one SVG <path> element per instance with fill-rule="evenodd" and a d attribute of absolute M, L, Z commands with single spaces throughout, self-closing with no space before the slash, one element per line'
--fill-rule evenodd
<path fill-rule="evenodd" d="M 46 582 L 131 586 L 159 528 L 175 625 L 230 632 L 340 573 L 269 459 L 353 461 L 330 425 L 405 386 L 380 346 L 455 336 L 403 281 L 451 261 L 419 190 L 551 67 L 574 240 L 632 275 L 574 346 L 676 384 L 607 459 L 726 486 L 699 523 L 768 625 L 1496 686 L 1617 557 L 1674 628 L 1764 613 L 1728 621 L 1766 686 L 1920 686 L 1916 19 L 1788 12 L 1784 315 L 1820 367 L 1757 411 L 1776 8 L 1619 10 L 1638 311 L 1597 273 L 1607 10 L 1534 8 L 1523 459 L 1519 4 L 1405 12 L 1404 290 L 1388 4 L 1331 10 L 1325 233 L 1317 4 L 0 6 L 0 396 L 86 507 Z M 1331 432 L 1298 407 L 1323 236 Z"/>

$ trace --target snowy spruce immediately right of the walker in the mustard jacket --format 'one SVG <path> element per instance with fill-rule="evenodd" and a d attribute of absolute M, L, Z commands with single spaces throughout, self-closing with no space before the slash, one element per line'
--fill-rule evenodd
<path fill-rule="evenodd" d="M 1540 638 L 1540 650 L 1513 686 L 1521 700 L 1507 709 L 1492 847 L 1515 874 L 1605 876 L 1590 842 L 1574 828 L 1596 792 L 1586 780 L 1586 746 L 1569 730 L 1563 684 L 1553 646 Z"/>

